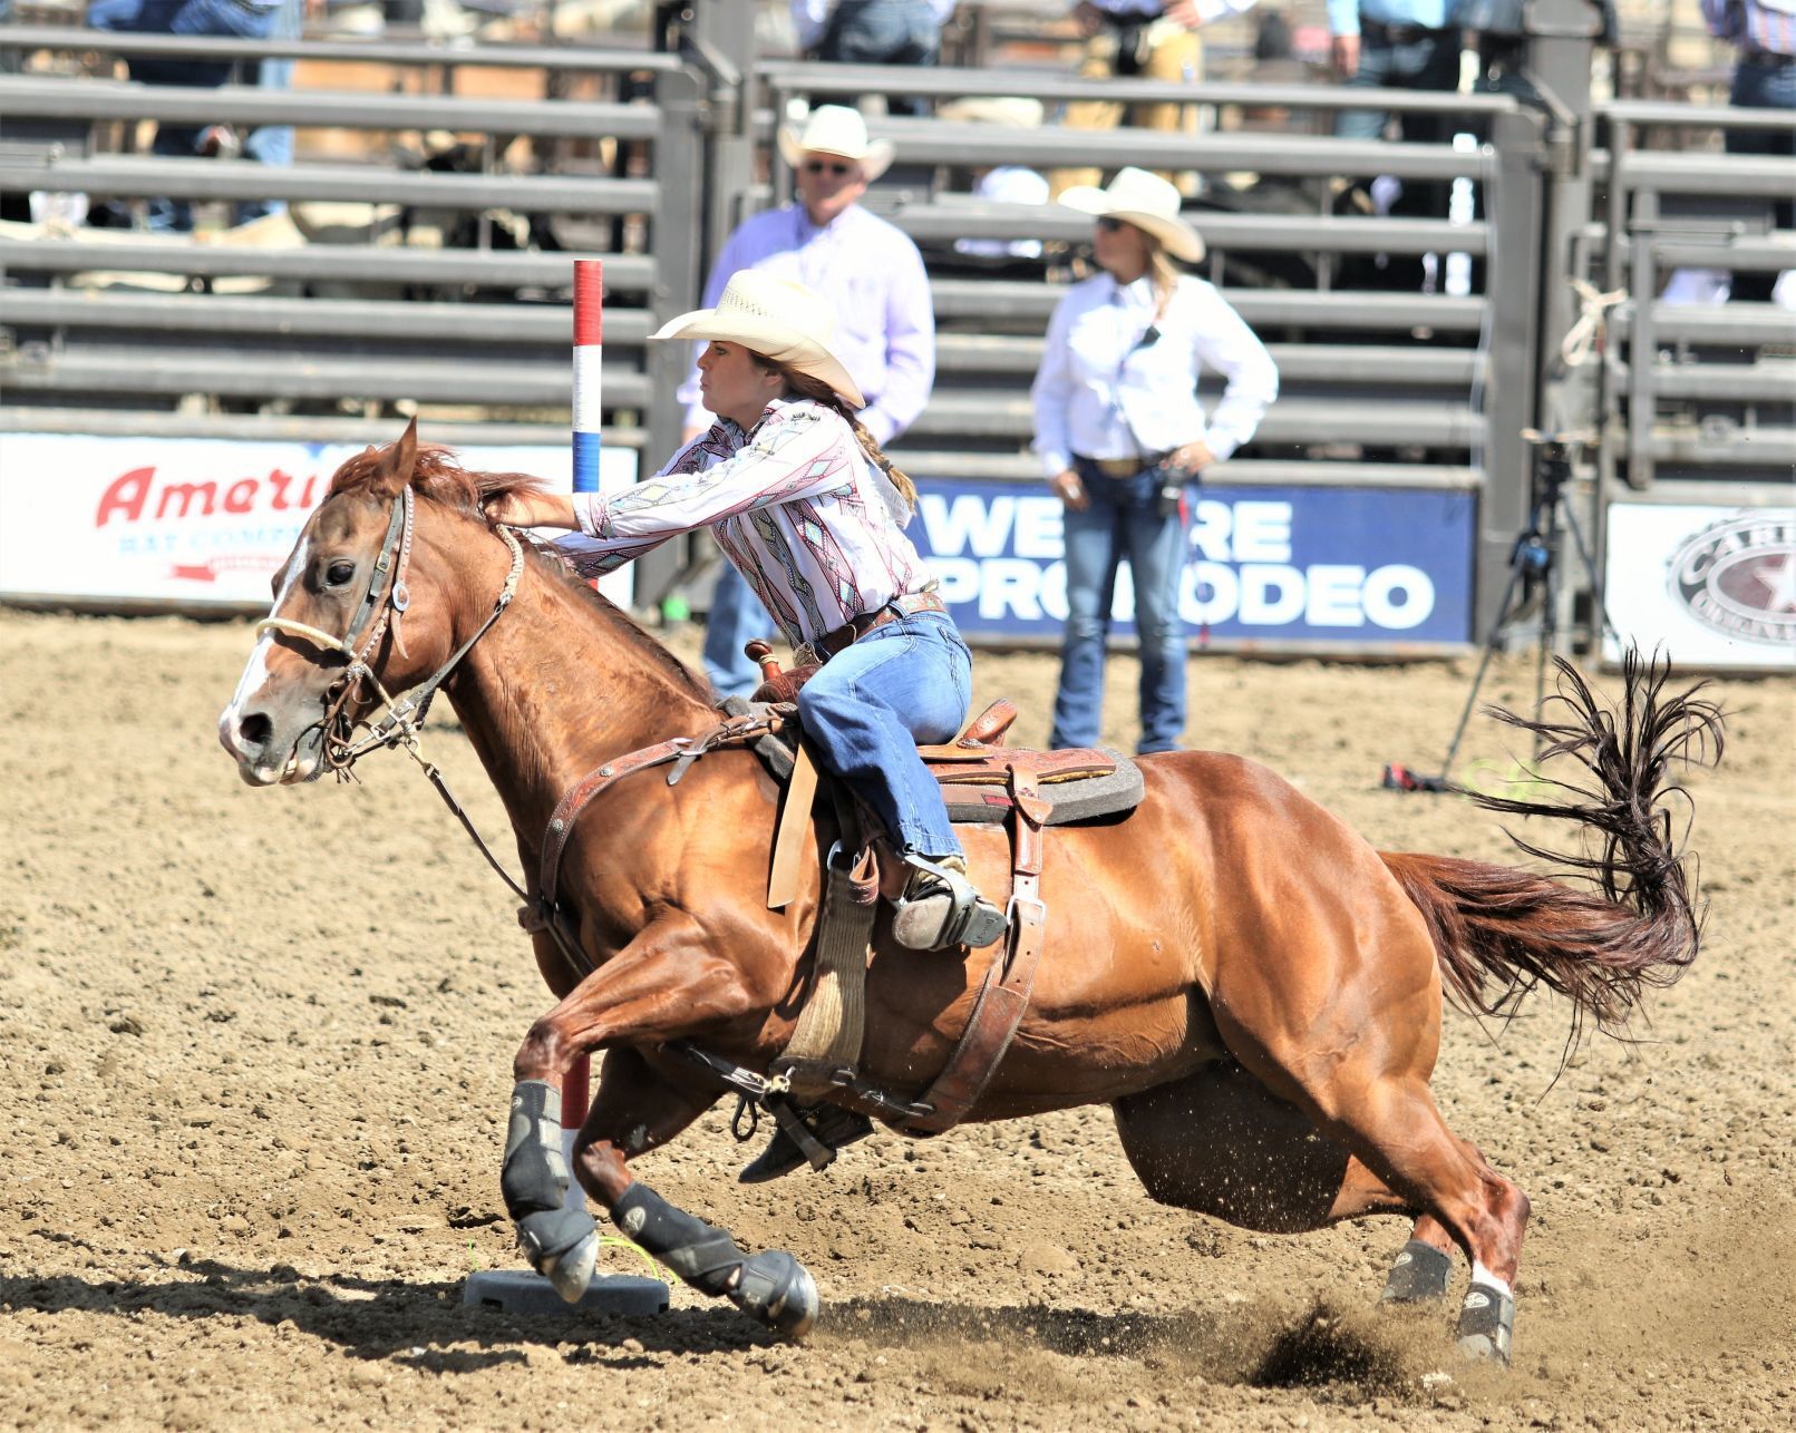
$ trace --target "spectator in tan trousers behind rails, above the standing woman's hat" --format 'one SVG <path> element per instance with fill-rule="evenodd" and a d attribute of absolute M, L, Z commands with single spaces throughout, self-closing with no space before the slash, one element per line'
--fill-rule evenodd
<path fill-rule="evenodd" d="M 1255 0 L 1078 0 L 1072 16 L 1085 36 L 1079 61 L 1081 79 L 1142 79 L 1194 84 L 1203 79 L 1203 41 L 1198 31 L 1228 14 L 1243 14 Z M 1078 101 L 1067 106 L 1070 129 L 1115 129 L 1122 124 L 1117 101 Z M 1130 122 L 1142 129 L 1194 135 L 1198 110 L 1193 104 L 1137 104 Z M 1056 194 L 1099 181 L 1096 169 L 1054 172 Z M 1167 176 L 1171 178 L 1171 176 Z M 1194 176 L 1185 181 L 1196 192 Z"/>

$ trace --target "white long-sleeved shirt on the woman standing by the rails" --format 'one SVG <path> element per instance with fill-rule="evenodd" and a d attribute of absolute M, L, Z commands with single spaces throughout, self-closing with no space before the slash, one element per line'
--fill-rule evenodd
<path fill-rule="evenodd" d="M 1034 451 L 1052 478 L 1083 458 L 1139 458 L 1184 444 L 1227 458 L 1254 436 L 1279 397 L 1279 368 L 1214 284 L 1180 275 L 1160 298 L 1151 277 L 1117 284 L 1108 273 L 1074 284 L 1047 325 L 1047 350 L 1029 390 Z M 1142 341 L 1149 325 L 1158 332 Z M 1198 374 L 1228 386 L 1209 417 Z"/>

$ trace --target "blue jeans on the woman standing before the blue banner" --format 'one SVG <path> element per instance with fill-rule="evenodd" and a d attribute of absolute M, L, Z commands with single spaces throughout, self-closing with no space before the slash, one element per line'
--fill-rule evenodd
<path fill-rule="evenodd" d="M 1185 514 L 1162 517 L 1162 470 L 1106 478 L 1078 463 L 1090 501 L 1065 512 L 1067 636 L 1060 648 L 1051 747 L 1094 747 L 1105 704 L 1105 643 L 1117 564 L 1135 576 L 1140 637 L 1140 752 L 1176 751 L 1185 731 L 1185 625 L 1178 582 L 1185 569 Z"/>

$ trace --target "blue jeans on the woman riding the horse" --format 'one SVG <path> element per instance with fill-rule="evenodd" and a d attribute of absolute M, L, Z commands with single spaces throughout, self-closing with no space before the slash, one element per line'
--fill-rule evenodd
<path fill-rule="evenodd" d="M 916 747 L 952 742 L 972 691 L 973 657 L 943 612 L 875 627 L 799 688 L 799 720 L 823 765 L 873 810 L 900 855 L 961 855 Z"/>

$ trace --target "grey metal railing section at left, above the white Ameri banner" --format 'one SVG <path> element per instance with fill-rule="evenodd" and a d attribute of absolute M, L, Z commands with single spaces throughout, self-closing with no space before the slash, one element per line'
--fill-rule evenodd
<path fill-rule="evenodd" d="M 65 66 L 86 66 L 90 56 L 314 59 L 427 72 L 426 88 L 442 90 L 201 90 L 92 75 L 0 77 L 0 194 L 14 203 L 29 192 L 348 201 L 366 207 L 370 217 L 361 233 L 366 242 L 286 248 L 117 230 L 9 233 L 0 242 L 9 280 L 0 298 L 0 321 L 11 338 L 0 350 L 0 382 L 13 399 L 9 426 L 56 424 L 59 408 L 115 411 L 135 404 L 140 431 L 167 433 L 172 418 L 183 431 L 203 431 L 207 417 L 181 411 L 192 395 L 214 409 L 262 406 L 269 420 L 293 404 L 318 404 L 327 409 L 320 418 L 329 418 L 332 406 L 383 400 L 478 406 L 526 420 L 566 411 L 571 260 L 591 253 L 607 260 L 607 444 L 661 451 L 677 436 L 672 368 L 659 381 L 650 377 L 672 356 L 650 350 L 647 334 L 656 314 L 684 305 L 699 284 L 697 246 L 656 241 L 688 233 L 700 207 L 706 93 L 679 57 L 634 48 L 237 41 L 16 25 L 0 27 L 0 47 L 52 63 L 61 56 Z M 458 77 L 492 68 L 541 72 L 546 97 L 454 93 Z M 573 90 L 602 97 L 564 97 Z M 242 160 L 95 153 L 95 136 L 138 120 L 375 135 L 449 131 L 471 140 L 474 172 L 304 158 L 273 169 Z M 605 140 L 620 151 L 648 151 L 650 178 L 625 174 L 621 163 L 620 172 L 598 172 L 598 162 L 585 162 L 582 172 L 582 162 L 564 154 L 548 172 L 501 172 L 501 153 L 519 138 L 539 145 Z M 465 223 L 476 248 L 374 242 L 401 207 L 422 226 Z M 569 250 L 490 248 L 494 224 L 506 214 L 553 215 Z M 611 251 L 625 224 L 625 242 L 641 251 Z M 339 233 L 354 239 L 357 228 Z M 133 291 L 158 282 L 183 291 Z M 219 291 L 242 286 L 264 291 Z M 517 291 L 539 302 L 519 303 Z M 210 417 L 221 431 L 241 427 L 241 415 Z M 458 424 L 458 431 L 469 426 Z"/>

